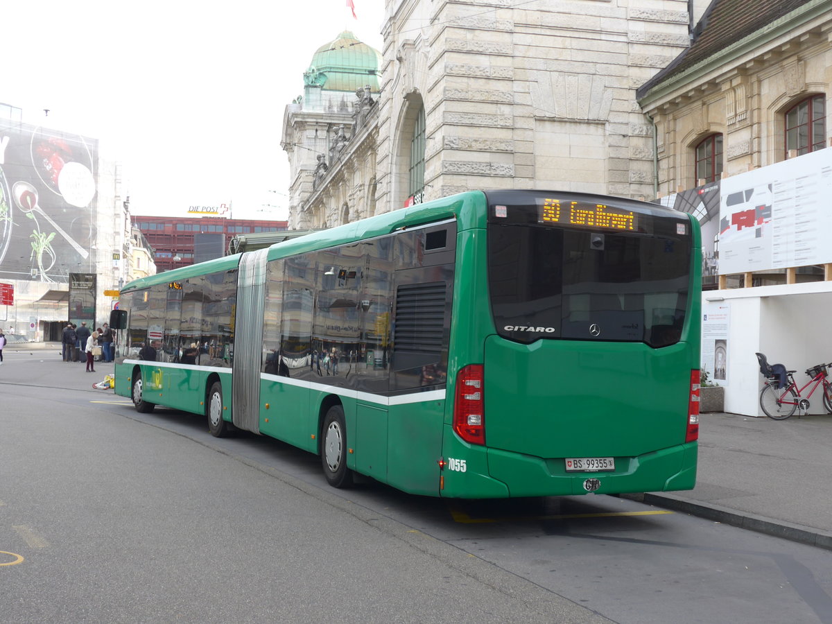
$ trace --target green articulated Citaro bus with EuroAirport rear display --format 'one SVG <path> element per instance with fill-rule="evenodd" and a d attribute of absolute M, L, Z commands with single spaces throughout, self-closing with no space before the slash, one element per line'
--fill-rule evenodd
<path fill-rule="evenodd" d="M 469 191 L 131 282 L 116 394 L 408 493 L 694 487 L 701 235 L 655 204 Z"/>

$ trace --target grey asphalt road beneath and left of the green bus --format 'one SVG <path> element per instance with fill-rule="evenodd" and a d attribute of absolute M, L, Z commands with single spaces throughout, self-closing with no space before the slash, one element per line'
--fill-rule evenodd
<path fill-rule="evenodd" d="M 832 622 L 819 548 L 623 498 L 334 490 L 309 453 L 6 361 L 4 622 Z"/>

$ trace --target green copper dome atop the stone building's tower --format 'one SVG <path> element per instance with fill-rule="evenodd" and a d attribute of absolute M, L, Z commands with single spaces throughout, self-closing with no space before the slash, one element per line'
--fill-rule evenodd
<path fill-rule="evenodd" d="M 314 76 L 314 82 L 327 91 L 355 92 L 369 85 L 372 92 L 378 93 L 380 65 L 379 51 L 345 30 L 318 48 L 306 76 Z"/>

